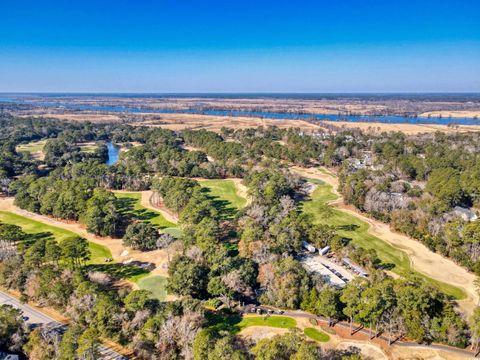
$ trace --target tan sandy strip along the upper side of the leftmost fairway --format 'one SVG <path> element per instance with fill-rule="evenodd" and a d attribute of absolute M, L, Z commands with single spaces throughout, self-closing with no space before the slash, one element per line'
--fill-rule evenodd
<path fill-rule="evenodd" d="M 29 211 L 22 210 L 13 204 L 13 198 L 1 198 L 0 199 L 0 210 L 9 211 L 26 218 L 36 220 L 51 226 L 62 228 L 65 230 L 72 231 L 88 241 L 93 243 L 103 245 L 107 247 L 112 253 L 112 257 L 115 261 L 119 263 L 139 261 L 142 263 L 151 263 L 155 266 L 155 269 L 152 271 L 154 275 L 167 276 L 168 269 L 168 258 L 172 254 L 168 252 L 168 249 L 141 252 L 138 250 L 127 249 L 123 246 L 121 239 L 115 239 L 111 237 L 101 237 L 89 233 L 85 226 L 77 222 L 66 222 L 53 219 L 45 215 L 35 214 Z"/>

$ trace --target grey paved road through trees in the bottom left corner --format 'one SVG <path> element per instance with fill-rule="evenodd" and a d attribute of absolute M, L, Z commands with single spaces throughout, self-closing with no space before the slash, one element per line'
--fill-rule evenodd
<path fill-rule="evenodd" d="M 27 324 L 31 327 L 47 325 L 49 328 L 59 329 L 60 331 L 65 328 L 64 324 L 27 304 L 22 304 L 16 298 L 3 291 L 0 291 L 0 305 L 11 305 L 22 310 Z M 105 360 L 128 360 L 127 357 L 105 346 L 100 346 L 100 354 L 102 355 L 101 359 Z"/>

